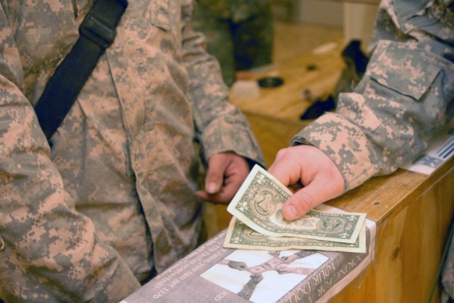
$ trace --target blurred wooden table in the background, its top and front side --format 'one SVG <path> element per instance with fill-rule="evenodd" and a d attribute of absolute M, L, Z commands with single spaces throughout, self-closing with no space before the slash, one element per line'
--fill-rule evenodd
<path fill-rule="evenodd" d="M 279 76 L 284 81 L 282 86 L 260 88 L 258 98 L 234 98 L 232 93 L 231 102 L 249 119 L 268 166 L 277 151 L 288 147 L 290 139 L 310 122 L 300 119 L 312 104 L 303 92 L 309 91 L 313 99 L 326 98 L 333 92 L 345 66 L 342 47 L 341 42 L 322 45 L 319 55 L 309 52 L 258 74 L 257 79 Z"/>

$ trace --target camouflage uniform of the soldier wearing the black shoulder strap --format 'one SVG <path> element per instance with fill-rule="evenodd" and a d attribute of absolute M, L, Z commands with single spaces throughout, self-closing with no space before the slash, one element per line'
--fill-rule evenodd
<path fill-rule="evenodd" d="M 199 158 L 262 163 L 190 0 L 134 0 L 52 137 L 33 112 L 92 0 L 0 0 L 0 298 L 118 302 L 191 251 Z"/>

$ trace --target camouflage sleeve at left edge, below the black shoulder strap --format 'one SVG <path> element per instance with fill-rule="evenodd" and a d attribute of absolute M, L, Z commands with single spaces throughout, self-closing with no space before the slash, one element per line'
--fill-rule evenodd
<path fill-rule="evenodd" d="M 140 284 L 74 211 L 29 101 L 0 6 L 0 301 L 118 302 Z"/>

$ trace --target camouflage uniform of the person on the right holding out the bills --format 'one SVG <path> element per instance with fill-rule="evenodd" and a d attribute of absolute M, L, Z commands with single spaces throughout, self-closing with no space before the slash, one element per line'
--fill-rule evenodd
<path fill-rule="evenodd" d="M 453 0 L 384 0 L 365 76 L 294 137 L 313 144 L 340 168 L 345 191 L 395 171 L 427 147 L 454 113 Z M 445 287 L 454 295 L 454 256 Z M 450 285 L 449 285 L 450 284 Z"/>

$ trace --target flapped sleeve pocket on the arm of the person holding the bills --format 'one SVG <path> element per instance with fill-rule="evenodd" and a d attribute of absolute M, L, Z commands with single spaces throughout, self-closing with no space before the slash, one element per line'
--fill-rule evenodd
<path fill-rule="evenodd" d="M 410 110 L 431 89 L 440 68 L 421 49 L 380 42 L 370 58 L 362 86 L 365 108 L 371 110 L 367 123 L 373 130 L 398 113 Z"/>

